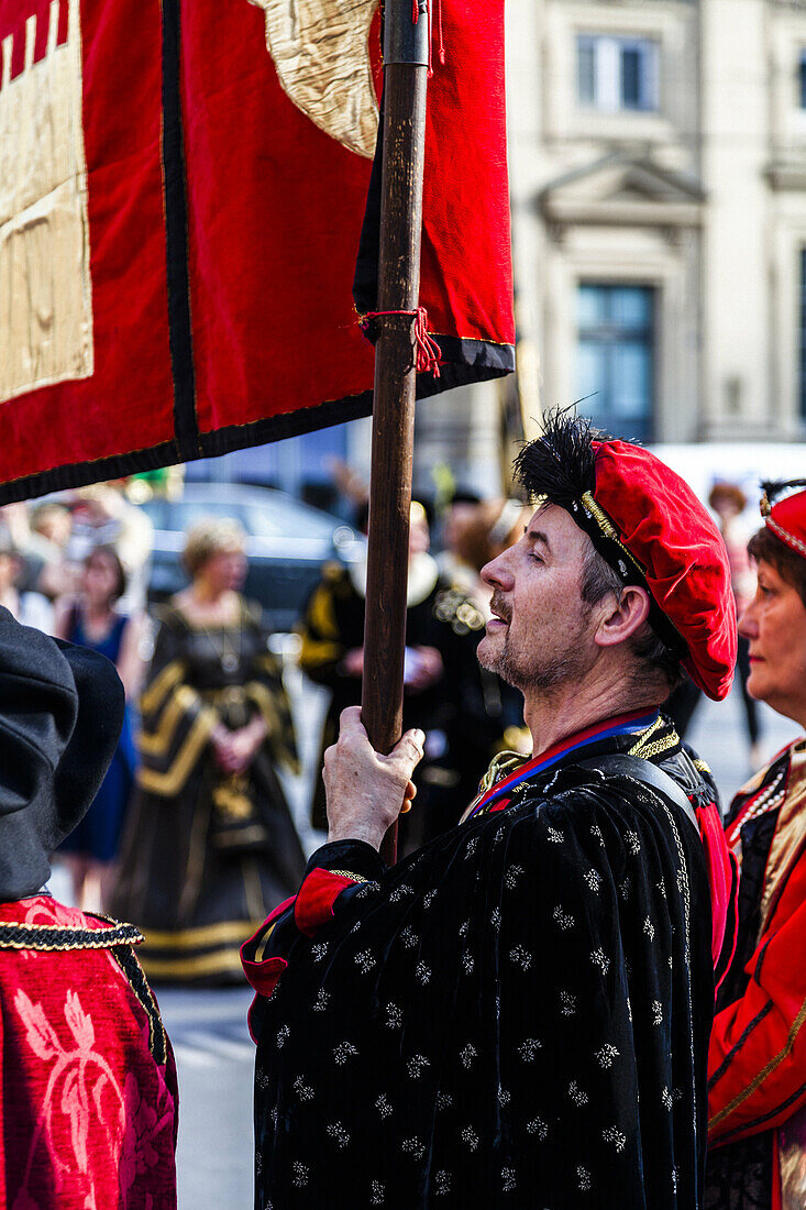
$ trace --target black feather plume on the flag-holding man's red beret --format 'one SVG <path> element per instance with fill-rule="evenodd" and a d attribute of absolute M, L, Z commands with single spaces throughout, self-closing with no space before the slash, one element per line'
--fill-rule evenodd
<path fill-rule="evenodd" d="M 593 440 L 601 438 L 588 419 L 568 408 L 547 411 L 542 434 L 528 442 L 514 460 L 514 478 L 531 497 L 547 496 L 552 503 L 570 508 L 595 488 Z"/>

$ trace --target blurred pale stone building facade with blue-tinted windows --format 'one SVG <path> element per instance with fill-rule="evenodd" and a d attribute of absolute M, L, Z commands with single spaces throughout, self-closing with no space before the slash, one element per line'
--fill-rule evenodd
<path fill-rule="evenodd" d="M 806 2 L 509 0 L 520 329 L 620 436 L 806 425 Z"/>

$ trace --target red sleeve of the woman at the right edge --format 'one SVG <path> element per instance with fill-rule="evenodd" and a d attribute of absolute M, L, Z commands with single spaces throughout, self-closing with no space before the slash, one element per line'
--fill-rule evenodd
<path fill-rule="evenodd" d="M 779 1125 L 806 1101 L 806 853 L 745 972 L 744 995 L 710 1036 L 712 1145 Z"/>

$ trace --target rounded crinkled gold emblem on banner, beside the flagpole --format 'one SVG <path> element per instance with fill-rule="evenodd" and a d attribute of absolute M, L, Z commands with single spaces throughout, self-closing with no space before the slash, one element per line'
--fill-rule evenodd
<path fill-rule="evenodd" d="M 378 99 L 369 27 L 378 0 L 249 0 L 266 13 L 266 46 L 283 91 L 319 129 L 372 160 Z"/>

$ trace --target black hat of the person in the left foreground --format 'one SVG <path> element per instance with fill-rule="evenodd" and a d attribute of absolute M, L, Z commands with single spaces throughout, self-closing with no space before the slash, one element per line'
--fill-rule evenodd
<path fill-rule="evenodd" d="M 0 607 L 0 901 L 36 892 L 86 813 L 123 722 L 115 666 Z"/>

